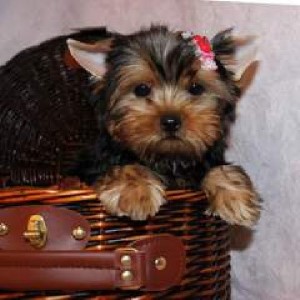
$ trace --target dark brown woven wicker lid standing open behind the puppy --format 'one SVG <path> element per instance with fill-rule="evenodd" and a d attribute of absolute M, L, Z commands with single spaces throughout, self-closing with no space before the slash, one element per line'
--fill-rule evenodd
<path fill-rule="evenodd" d="M 88 75 L 64 63 L 65 41 L 29 48 L 0 68 L 0 175 L 14 184 L 55 183 L 95 137 Z"/>

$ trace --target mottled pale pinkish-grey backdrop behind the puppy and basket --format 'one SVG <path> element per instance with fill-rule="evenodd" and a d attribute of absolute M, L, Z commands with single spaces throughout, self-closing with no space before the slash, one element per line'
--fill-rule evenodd
<path fill-rule="evenodd" d="M 260 72 L 239 106 L 228 158 L 264 198 L 252 243 L 232 253 L 233 299 L 300 299 L 300 7 L 199 0 L 0 0 L 0 63 L 70 28 L 163 23 L 261 37 Z M 239 236 L 244 239 L 244 236 Z"/>

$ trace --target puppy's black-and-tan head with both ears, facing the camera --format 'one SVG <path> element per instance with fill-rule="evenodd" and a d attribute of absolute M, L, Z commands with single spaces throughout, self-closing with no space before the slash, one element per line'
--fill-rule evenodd
<path fill-rule="evenodd" d="M 192 38 L 161 26 L 68 45 L 78 63 L 99 78 L 105 94 L 99 101 L 105 101 L 105 125 L 113 139 L 143 159 L 201 158 L 226 136 L 239 85 L 250 81 L 253 64 L 244 59 L 241 70 L 235 59 L 249 40 L 233 38 L 230 30 L 218 34 L 211 43 L 211 68 Z"/>

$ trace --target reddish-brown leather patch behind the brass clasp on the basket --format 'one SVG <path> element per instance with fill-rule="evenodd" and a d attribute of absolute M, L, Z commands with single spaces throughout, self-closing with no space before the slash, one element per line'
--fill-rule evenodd
<path fill-rule="evenodd" d="M 6 235 L 0 235 L 0 249 L 9 251 L 32 251 L 34 247 L 24 238 L 29 218 L 41 215 L 47 226 L 47 241 L 42 251 L 81 250 L 90 238 L 89 223 L 79 213 L 50 205 L 32 205 L 1 208 L 0 223 L 8 227 Z M 72 236 L 80 226 L 86 232 L 81 240 Z"/>

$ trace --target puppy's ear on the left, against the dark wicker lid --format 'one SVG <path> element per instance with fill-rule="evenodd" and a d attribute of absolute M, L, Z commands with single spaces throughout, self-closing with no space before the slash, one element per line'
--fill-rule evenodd
<path fill-rule="evenodd" d="M 106 55 L 111 50 L 112 39 L 105 39 L 94 44 L 86 44 L 68 39 L 67 44 L 73 58 L 85 70 L 96 77 L 106 72 Z"/>

